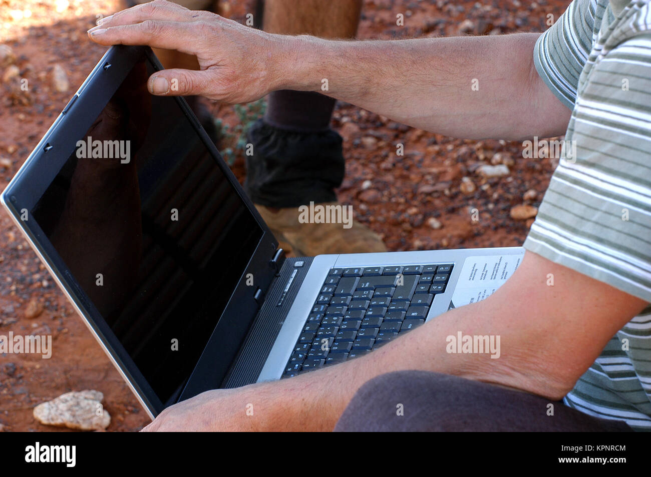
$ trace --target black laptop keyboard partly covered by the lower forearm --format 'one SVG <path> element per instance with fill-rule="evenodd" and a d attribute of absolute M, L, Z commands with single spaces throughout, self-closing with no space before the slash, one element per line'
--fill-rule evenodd
<path fill-rule="evenodd" d="M 370 353 L 421 326 L 452 264 L 331 268 L 283 378 Z"/>

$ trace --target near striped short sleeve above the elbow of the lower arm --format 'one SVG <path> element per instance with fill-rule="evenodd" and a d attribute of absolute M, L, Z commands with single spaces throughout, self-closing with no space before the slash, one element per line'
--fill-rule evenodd
<path fill-rule="evenodd" d="M 651 302 L 651 34 L 589 66 L 524 246 Z"/>

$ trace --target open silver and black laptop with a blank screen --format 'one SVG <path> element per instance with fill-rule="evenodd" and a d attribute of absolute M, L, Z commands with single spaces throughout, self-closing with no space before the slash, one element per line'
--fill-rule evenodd
<path fill-rule="evenodd" d="M 152 417 L 355 359 L 482 300 L 522 248 L 285 257 L 148 47 L 111 47 L 1 199 Z"/>

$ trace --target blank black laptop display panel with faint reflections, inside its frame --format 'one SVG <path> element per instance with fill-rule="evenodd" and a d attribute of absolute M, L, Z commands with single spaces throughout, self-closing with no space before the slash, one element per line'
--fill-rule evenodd
<path fill-rule="evenodd" d="M 178 397 L 262 237 L 180 105 L 136 64 L 32 216 L 161 402 Z"/>

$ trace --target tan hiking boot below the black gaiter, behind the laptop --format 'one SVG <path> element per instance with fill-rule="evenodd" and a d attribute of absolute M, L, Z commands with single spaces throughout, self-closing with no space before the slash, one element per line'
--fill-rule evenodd
<path fill-rule="evenodd" d="M 338 202 L 316 205 L 343 207 Z M 255 207 L 278 240 L 279 246 L 285 251 L 291 250 L 296 257 L 387 251 L 380 236 L 356 220 L 352 220 L 350 228 L 344 228 L 344 224 L 303 224 L 299 222 L 299 207 L 275 209 L 258 204 Z"/>

